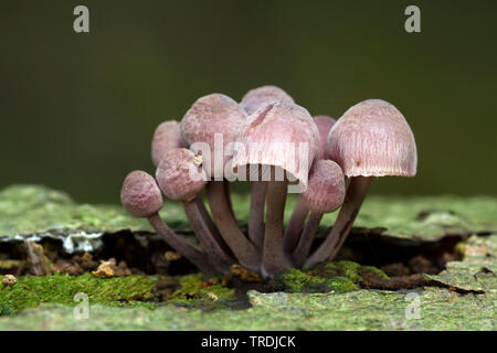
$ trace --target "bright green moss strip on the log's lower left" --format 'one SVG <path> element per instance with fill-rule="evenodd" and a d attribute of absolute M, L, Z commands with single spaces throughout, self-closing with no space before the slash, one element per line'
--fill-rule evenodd
<path fill-rule="evenodd" d="M 54 275 L 44 277 L 23 276 L 13 287 L 0 285 L 0 315 L 13 314 L 22 309 L 38 307 L 43 302 L 75 306 L 74 296 L 86 293 L 89 304 L 144 306 L 154 295 L 154 279 L 145 276 L 95 278 L 91 274 L 71 277 Z"/>

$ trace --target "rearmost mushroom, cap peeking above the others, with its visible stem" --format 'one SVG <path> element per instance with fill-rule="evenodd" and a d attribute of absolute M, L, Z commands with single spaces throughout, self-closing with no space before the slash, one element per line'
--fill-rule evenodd
<path fill-rule="evenodd" d="M 240 106 L 245 109 L 248 115 L 251 115 L 260 108 L 276 101 L 294 103 L 294 99 L 282 88 L 267 85 L 248 90 L 245 96 L 243 96 Z M 251 178 L 251 180 L 256 180 L 252 181 L 251 205 L 248 212 L 248 238 L 257 248 L 261 249 L 264 237 L 266 183 L 258 180 L 258 175 L 262 173 L 262 170 L 257 169 L 255 172 L 257 173 L 257 176 Z"/>

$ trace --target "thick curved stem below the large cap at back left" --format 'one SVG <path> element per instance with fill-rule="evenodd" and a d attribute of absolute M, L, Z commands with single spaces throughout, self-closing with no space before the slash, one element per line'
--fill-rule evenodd
<path fill-rule="evenodd" d="M 207 197 L 214 223 L 240 264 L 251 270 L 258 270 L 261 256 L 256 247 L 242 233 L 233 213 L 230 212 L 230 202 L 223 182 L 209 182 Z"/>

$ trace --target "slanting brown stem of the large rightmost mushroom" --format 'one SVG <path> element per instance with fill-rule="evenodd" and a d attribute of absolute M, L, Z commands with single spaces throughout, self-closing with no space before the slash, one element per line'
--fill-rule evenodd
<path fill-rule="evenodd" d="M 352 228 L 353 221 L 361 208 L 369 186 L 371 176 L 353 176 L 347 188 L 343 205 L 338 213 L 337 221 L 329 232 L 327 238 L 319 248 L 307 259 L 305 267 L 313 267 L 326 259 L 332 259 L 340 250 L 343 242 Z"/>

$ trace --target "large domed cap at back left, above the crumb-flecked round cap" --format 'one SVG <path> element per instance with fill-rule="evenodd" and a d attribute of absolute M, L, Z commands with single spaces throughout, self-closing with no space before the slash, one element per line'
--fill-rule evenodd
<path fill-rule="evenodd" d="M 189 145 L 205 142 L 211 148 L 210 156 L 204 156 L 204 163 L 211 167 L 210 175 L 223 175 L 224 164 L 230 159 L 230 156 L 223 156 L 222 165 L 215 163 L 214 136 L 222 135 L 222 147 L 225 151 L 226 146 L 235 141 L 240 127 L 246 118 L 245 110 L 236 101 L 219 93 L 197 99 L 182 118 L 180 125 L 182 138 Z"/>

